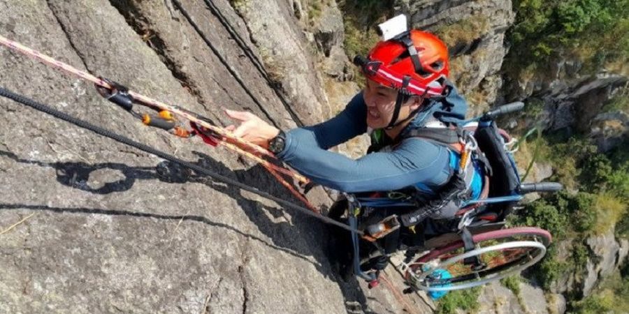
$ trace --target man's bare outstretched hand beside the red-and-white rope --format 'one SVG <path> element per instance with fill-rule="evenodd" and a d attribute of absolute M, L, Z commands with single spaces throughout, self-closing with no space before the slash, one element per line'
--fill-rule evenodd
<path fill-rule="evenodd" d="M 239 126 L 231 125 L 225 129 L 247 142 L 267 148 L 268 141 L 280 133 L 275 126 L 271 126 L 251 112 L 226 109 L 225 113 L 231 119 L 240 121 Z"/>

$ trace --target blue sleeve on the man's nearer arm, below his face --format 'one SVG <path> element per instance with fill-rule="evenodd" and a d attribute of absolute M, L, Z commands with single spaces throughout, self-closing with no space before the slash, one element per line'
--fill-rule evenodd
<path fill-rule="evenodd" d="M 353 160 L 310 144 L 308 133 L 296 129 L 287 134 L 287 147 L 278 156 L 315 183 L 335 190 L 357 193 L 441 185 L 449 177 L 449 152 L 426 140 L 409 138 L 393 151 Z"/>

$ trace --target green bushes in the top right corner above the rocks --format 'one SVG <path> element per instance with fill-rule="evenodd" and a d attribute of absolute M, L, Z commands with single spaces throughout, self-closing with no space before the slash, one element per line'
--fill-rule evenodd
<path fill-rule="evenodd" d="M 509 63 L 518 72 L 547 68 L 559 56 L 581 61 L 585 73 L 618 70 L 629 59 L 629 1 L 516 0 L 513 7 Z"/>

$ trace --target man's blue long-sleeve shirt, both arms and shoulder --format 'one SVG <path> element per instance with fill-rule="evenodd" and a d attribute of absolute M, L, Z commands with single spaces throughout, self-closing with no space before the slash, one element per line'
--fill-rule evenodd
<path fill-rule="evenodd" d="M 463 119 L 467 105 L 454 87 L 449 94 L 420 112 L 402 131 L 424 126 L 430 117 Z M 398 190 L 417 184 L 436 187 L 452 172 L 451 155 L 443 145 L 410 137 L 391 151 L 356 160 L 327 149 L 366 133 L 367 107 L 362 93 L 336 117 L 315 126 L 287 132 L 286 147 L 277 156 L 317 184 L 348 193 Z"/>

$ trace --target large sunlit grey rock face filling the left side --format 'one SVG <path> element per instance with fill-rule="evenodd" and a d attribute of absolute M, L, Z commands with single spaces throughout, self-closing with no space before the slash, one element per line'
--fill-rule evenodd
<path fill-rule="evenodd" d="M 229 4 L 216 2 L 250 38 Z M 221 107 L 295 125 L 200 1 L 0 1 L 0 33 L 220 125 L 231 123 Z M 5 48 L 0 59 L 3 87 L 291 199 L 259 166 L 145 128 L 91 84 Z M 388 290 L 368 301 L 356 281 L 338 283 L 317 220 L 6 98 L 0 109 L 1 313 L 402 311 Z M 313 192 L 315 204 L 329 204 Z"/>

